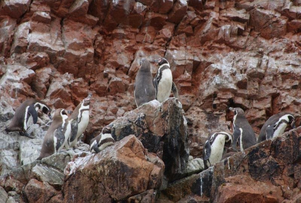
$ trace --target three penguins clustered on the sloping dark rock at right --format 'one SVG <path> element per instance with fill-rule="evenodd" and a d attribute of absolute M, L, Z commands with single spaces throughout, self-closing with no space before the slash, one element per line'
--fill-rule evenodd
<path fill-rule="evenodd" d="M 215 163 L 233 155 L 238 151 L 237 145 L 239 145 L 239 150 L 243 151 L 264 140 L 281 135 L 288 126 L 295 128 L 295 117 L 290 113 L 282 112 L 265 121 L 258 139 L 256 139 L 255 132 L 245 117 L 244 111 L 238 107 L 229 107 L 229 110 L 234 115 L 233 133 L 224 131 L 210 133 L 203 147 L 204 169 L 208 169 Z M 228 148 L 231 148 L 229 153 L 227 153 Z"/>

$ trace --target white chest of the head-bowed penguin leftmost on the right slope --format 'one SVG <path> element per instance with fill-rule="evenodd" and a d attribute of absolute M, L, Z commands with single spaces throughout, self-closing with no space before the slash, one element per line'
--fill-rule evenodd
<path fill-rule="evenodd" d="M 217 136 L 217 138 L 214 140 L 214 142 L 211 145 L 211 154 L 209 156 L 209 161 L 211 165 L 221 161 L 223 156 L 224 146 L 225 146 L 225 136 L 224 135 Z"/>

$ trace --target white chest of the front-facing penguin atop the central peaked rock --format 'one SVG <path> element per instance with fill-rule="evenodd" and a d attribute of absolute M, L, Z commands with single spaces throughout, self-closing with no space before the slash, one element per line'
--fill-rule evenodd
<path fill-rule="evenodd" d="M 171 70 L 164 69 L 162 71 L 161 80 L 158 83 L 157 100 L 159 102 L 165 101 L 171 92 L 172 87 L 172 73 Z"/>

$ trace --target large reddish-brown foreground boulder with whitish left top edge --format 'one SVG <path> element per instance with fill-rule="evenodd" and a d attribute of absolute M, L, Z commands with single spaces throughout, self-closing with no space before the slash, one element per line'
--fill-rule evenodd
<path fill-rule="evenodd" d="M 142 143 L 131 135 L 97 154 L 79 156 L 70 162 L 65 171 L 64 201 L 73 198 L 121 201 L 146 190 L 158 189 L 163 170 L 163 162 L 145 151 Z M 94 195 L 95 191 L 98 196 Z"/>

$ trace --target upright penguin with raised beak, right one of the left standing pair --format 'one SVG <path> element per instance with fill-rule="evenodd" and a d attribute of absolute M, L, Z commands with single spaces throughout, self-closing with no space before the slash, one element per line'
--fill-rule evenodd
<path fill-rule="evenodd" d="M 71 134 L 68 142 L 66 142 L 66 149 L 76 145 L 79 136 L 88 126 L 91 96 L 92 94 L 89 93 L 88 96 L 77 105 L 73 113 L 69 116 L 69 120 L 71 122 Z"/>

